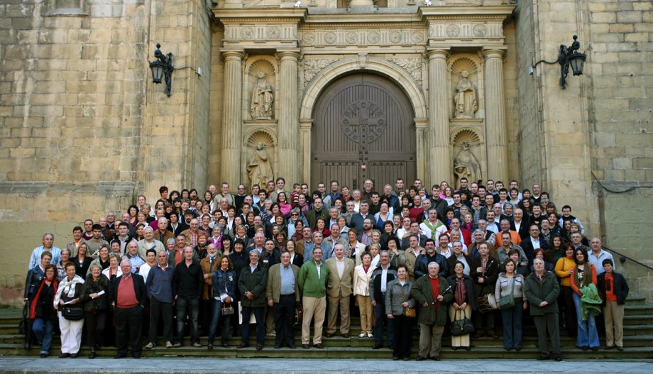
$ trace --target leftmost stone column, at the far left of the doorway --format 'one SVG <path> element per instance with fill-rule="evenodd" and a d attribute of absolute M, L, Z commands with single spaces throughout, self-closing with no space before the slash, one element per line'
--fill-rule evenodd
<path fill-rule="evenodd" d="M 224 90 L 222 100 L 222 180 L 232 187 L 241 180 L 243 132 L 243 56 L 241 50 L 224 50 Z"/>

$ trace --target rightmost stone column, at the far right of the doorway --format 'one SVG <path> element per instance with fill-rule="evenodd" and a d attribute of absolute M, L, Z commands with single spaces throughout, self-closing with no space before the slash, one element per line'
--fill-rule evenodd
<path fill-rule="evenodd" d="M 488 147 L 488 179 L 507 180 L 503 55 L 505 50 L 483 50 L 485 57 L 485 136 Z"/>

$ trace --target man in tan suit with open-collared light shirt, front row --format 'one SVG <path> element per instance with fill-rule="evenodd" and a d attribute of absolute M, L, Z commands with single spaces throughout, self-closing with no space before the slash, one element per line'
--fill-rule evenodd
<path fill-rule="evenodd" d="M 324 262 L 329 270 L 327 280 L 327 299 L 329 316 L 327 317 L 327 338 L 336 333 L 336 319 L 340 309 L 340 334 L 349 337 L 349 302 L 353 285 L 353 268 L 356 266 L 351 258 L 345 257 L 342 243 L 336 243 L 334 257 Z"/>

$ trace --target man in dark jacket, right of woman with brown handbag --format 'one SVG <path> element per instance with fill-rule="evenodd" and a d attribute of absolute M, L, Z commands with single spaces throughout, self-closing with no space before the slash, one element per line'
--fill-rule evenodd
<path fill-rule="evenodd" d="M 248 266 L 241 270 L 238 277 L 238 290 L 241 291 L 243 306 L 243 325 L 241 326 L 242 343 L 238 348 L 249 346 L 249 319 L 252 312 L 256 317 L 256 350 L 265 344 L 265 286 L 268 285 L 268 269 L 258 263 L 258 251 L 249 253 Z"/>

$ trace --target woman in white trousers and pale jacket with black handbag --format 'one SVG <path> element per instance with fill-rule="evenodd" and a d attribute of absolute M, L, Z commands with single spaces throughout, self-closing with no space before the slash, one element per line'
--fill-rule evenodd
<path fill-rule="evenodd" d="M 75 275 L 75 264 L 66 264 L 66 277 L 57 289 L 53 302 L 59 311 L 59 329 L 61 330 L 60 358 L 76 358 L 82 345 L 82 327 L 84 310 L 82 309 L 82 292 L 84 280 Z"/>

